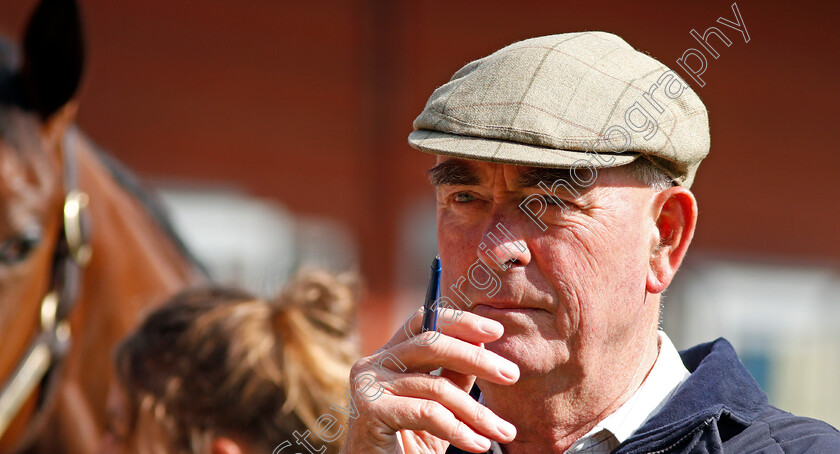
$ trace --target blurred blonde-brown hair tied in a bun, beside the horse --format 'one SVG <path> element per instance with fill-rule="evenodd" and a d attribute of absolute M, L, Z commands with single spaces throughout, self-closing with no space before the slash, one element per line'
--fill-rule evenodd
<path fill-rule="evenodd" d="M 171 449 L 203 452 L 219 435 L 274 446 L 314 432 L 319 415 L 344 405 L 357 357 L 354 300 L 346 278 L 320 271 L 299 273 L 270 302 L 229 288 L 186 290 L 118 347 L 117 375 Z"/>

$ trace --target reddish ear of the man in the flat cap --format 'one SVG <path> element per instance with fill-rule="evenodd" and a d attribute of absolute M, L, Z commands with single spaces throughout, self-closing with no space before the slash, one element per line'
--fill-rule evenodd
<path fill-rule="evenodd" d="M 659 192 L 653 199 L 656 221 L 654 247 L 650 253 L 647 291 L 661 293 L 674 278 L 697 224 L 697 201 L 694 194 L 682 186 Z"/>

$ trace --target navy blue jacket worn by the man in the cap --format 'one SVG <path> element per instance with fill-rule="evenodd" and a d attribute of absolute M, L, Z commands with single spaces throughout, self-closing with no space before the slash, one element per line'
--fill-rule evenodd
<path fill-rule="evenodd" d="M 840 454 L 840 432 L 769 405 L 725 339 L 680 356 L 691 376 L 613 454 Z"/>

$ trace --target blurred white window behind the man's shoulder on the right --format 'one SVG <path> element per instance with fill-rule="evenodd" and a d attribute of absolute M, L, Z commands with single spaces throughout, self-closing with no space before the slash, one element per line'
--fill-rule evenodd
<path fill-rule="evenodd" d="M 663 301 L 677 348 L 725 337 L 772 404 L 840 426 L 835 269 L 705 257 L 684 264 Z"/>

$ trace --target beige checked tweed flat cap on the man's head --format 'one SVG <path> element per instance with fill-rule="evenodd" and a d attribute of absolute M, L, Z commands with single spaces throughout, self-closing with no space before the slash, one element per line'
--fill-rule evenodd
<path fill-rule="evenodd" d="M 618 36 L 565 33 L 461 68 L 429 98 L 408 142 L 535 167 L 614 167 L 644 157 L 688 187 L 709 153 L 709 119 L 676 72 Z"/>

